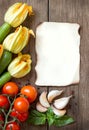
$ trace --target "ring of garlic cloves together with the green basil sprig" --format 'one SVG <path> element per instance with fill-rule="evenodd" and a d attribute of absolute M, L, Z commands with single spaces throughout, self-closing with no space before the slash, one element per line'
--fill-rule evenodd
<path fill-rule="evenodd" d="M 71 116 L 66 114 L 66 106 L 71 96 L 55 99 L 63 93 L 63 90 L 51 90 L 42 92 L 36 104 L 37 110 L 31 110 L 28 122 L 34 125 L 65 126 L 74 122 Z"/>

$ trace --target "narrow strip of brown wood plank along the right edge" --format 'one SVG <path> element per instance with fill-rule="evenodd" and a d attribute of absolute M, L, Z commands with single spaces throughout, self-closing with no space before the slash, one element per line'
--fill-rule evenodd
<path fill-rule="evenodd" d="M 82 4 L 81 29 L 81 82 L 79 85 L 79 125 L 78 130 L 89 129 L 89 1 Z"/>

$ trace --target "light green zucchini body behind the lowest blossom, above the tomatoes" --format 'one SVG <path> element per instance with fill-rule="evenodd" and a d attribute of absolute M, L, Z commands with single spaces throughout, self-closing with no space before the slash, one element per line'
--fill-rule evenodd
<path fill-rule="evenodd" d="M 6 82 L 8 82 L 12 78 L 11 74 L 9 72 L 5 72 L 0 77 L 0 87 L 2 87 Z"/>

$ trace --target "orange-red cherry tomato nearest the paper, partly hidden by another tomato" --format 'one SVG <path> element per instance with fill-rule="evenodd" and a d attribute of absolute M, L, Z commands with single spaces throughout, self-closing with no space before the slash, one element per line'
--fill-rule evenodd
<path fill-rule="evenodd" d="M 37 98 L 37 90 L 31 85 L 22 87 L 21 94 L 27 96 L 30 103 L 32 103 Z"/>

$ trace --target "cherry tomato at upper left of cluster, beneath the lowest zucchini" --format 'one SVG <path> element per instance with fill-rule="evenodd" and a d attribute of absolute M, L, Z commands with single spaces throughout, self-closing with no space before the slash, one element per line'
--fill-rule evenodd
<path fill-rule="evenodd" d="M 18 86 L 14 82 L 7 82 L 2 89 L 2 93 L 15 96 L 18 93 Z"/>

